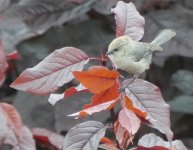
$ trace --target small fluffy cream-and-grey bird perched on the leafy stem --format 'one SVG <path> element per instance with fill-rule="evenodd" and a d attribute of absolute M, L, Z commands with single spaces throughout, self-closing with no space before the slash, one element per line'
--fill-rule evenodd
<path fill-rule="evenodd" d="M 174 37 L 176 33 L 170 29 L 163 30 L 151 43 L 133 41 L 129 36 L 114 39 L 107 55 L 116 68 L 124 70 L 137 78 L 149 66 L 154 51 L 162 51 L 162 44 Z"/>

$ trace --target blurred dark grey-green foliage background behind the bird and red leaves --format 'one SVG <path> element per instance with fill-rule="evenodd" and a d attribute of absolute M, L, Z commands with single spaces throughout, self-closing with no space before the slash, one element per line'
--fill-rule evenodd
<path fill-rule="evenodd" d="M 163 53 L 155 53 L 151 69 L 143 78 L 159 86 L 170 104 L 174 138 L 193 149 L 193 0 L 125 0 L 130 1 L 145 17 L 142 41 L 150 42 L 165 28 L 177 32 L 163 46 Z M 33 67 L 56 49 L 73 46 L 92 57 L 100 56 L 100 51 L 105 53 L 115 38 L 115 20 L 110 9 L 117 2 L 0 0 L 0 41 L 7 54 L 15 50 L 19 53 L 19 59 L 8 60 L 6 74 L 0 75 L 0 101 L 13 104 L 28 127 L 65 134 L 82 121 L 109 119 L 109 112 L 78 120 L 66 117 L 81 110 L 91 95 L 77 94 L 52 106 L 48 96 L 16 91 L 9 85 L 24 69 Z M 71 82 L 57 92 L 62 93 L 73 84 L 76 83 Z M 148 132 L 146 128 L 141 130 L 137 137 Z"/>

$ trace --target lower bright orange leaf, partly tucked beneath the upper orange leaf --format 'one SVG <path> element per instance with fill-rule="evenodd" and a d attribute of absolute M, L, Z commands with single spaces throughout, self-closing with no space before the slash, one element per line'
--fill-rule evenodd
<path fill-rule="evenodd" d="M 100 94 L 95 94 L 92 97 L 92 103 L 85 104 L 84 109 L 88 109 L 93 106 L 100 105 L 102 103 L 106 103 L 106 102 L 118 99 L 119 97 L 118 88 L 119 88 L 119 85 L 117 82 L 115 82 L 111 88 L 107 89 L 106 91 L 101 92 Z"/>

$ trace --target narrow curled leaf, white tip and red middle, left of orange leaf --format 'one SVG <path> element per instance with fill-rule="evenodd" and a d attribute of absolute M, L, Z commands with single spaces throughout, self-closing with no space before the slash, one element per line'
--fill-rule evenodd
<path fill-rule="evenodd" d="M 65 97 L 71 96 L 77 92 L 83 92 L 83 91 L 87 91 L 87 89 L 85 89 L 85 87 L 83 87 L 82 84 L 79 84 L 77 87 L 73 86 L 73 87 L 67 89 L 62 94 L 50 94 L 48 102 L 52 105 L 55 105 L 56 102 L 58 102 L 59 100 L 65 98 Z"/>

